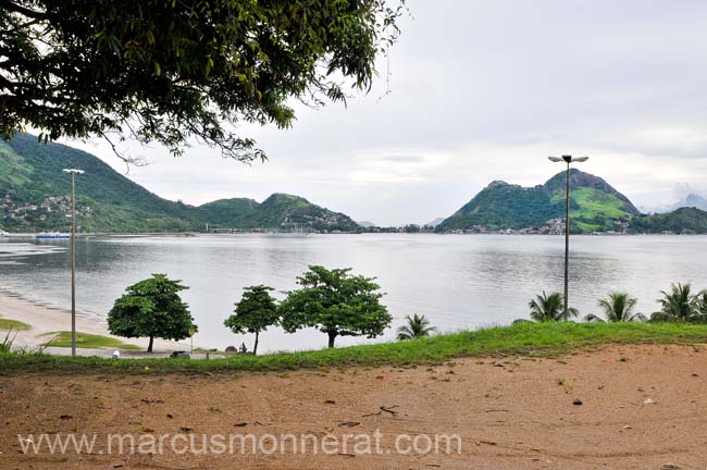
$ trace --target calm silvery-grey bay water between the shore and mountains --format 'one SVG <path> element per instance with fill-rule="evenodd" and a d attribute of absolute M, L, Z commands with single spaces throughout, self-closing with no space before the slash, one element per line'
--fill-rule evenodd
<path fill-rule="evenodd" d="M 199 325 L 195 343 L 223 348 L 234 336 L 223 320 L 241 288 L 268 284 L 296 287 L 308 264 L 352 267 L 377 276 L 395 317 L 423 313 L 441 331 L 509 323 L 528 317 L 536 293 L 562 289 L 563 239 L 500 235 L 204 235 L 197 237 L 107 237 L 77 247 L 78 308 L 104 318 L 123 289 L 150 273 L 168 273 L 190 286 L 184 293 Z M 0 243 L 0 287 L 69 307 L 69 243 Z M 572 240 L 570 299 L 582 316 L 610 290 L 638 297 L 652 312 L 671 282 L 707 287 L 707 237 L 576 236 Z M 278 294 L 280 295 L 280 294 Z M 281 295 L 280 295 L 281 296 Z M 64 314 L 58 312 L 57 314 Z M 384 338 L 394 337 L 394 329 Z M 337 344 L 364 338 L 337 338 Z M 319 348 L 325 335 L 305 330 L 261 336 L 263 350 Z"/>

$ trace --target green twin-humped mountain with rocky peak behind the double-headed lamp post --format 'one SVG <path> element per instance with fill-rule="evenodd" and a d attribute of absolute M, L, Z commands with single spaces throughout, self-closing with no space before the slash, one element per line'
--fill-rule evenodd
<path fill-rule="evenodd" d="M 532 188 L 493 182 L 450 218 L 438 232 L 456 230 L 530 228 L 565 217 L 566 173 L 558 173 Z M 572 230 L 595 232 L 622 230 L 641 212 L 631 201 L 598 176 L 570 172 Z"/>

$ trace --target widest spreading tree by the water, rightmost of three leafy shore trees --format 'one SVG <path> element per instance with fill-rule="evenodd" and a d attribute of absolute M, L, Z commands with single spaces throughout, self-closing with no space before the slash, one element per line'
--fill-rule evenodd
<path fill-rule="evenodd" d="M 380 302 L 380 286 L 374 277 L 350 275 L 350 271 L 310 265 L 308 272 L 297 277 L 302 288 L 287 293 L 280 306 L 283 329 L 294 333 L 315 327 L 328 336 L 331 348 L 337 336 L 382 335 L 393 317 Z"/>

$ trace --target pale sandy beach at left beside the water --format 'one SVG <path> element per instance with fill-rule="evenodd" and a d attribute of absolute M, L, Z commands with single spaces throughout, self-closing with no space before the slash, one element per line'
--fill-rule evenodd
<path fill-rule="evenodd" d="M 16 332 L 14 338 L 14 348 L 24 348 L 33 350 L 39 348 L 42 344 L 51 338 L 53 332 L 71 331 L 71 311 L 62 308 L 42 305 L 18 294 L 0 292 L 0 318 L 7 320 L 17 320 L 32 326 L 28 331 Z M 77 314 L 76 331 L 79 333 L 96 334 L 114 337 L 123 343 L 137 345 L 147 348 L 147 338 L 122 338 L 113 336 L 108 332 L 108 324 L 98 316 Z M 0 336 L 4 338 L 7 332 L 0 331 Z M 14 336 L 15 332 L 12 333 Z M 171 351 L 176 349 L 188 349 L 186 343 L 169 342 L 163 339 L 154 341 L 156 351 Z M 46 352 L 50 354 L 71 354 L 69 348 L 47 348 Z M 103 349 L 78 349 L 79 355 L 99 355 L 108 356 L 111 350 Z"/>

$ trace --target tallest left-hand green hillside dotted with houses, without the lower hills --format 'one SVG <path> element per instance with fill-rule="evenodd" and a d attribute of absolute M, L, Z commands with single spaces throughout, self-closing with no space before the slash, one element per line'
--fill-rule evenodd
<path fill-rule="evenodd" d="M 76 218 L 88 232 L 185 231 L 198 223 L 194 208 L 148 191 L 82 150 L 17 135 L 0 140 L 0 225 L 8 231 L 65 231 L 71 178 L 77 168 Z"/>

